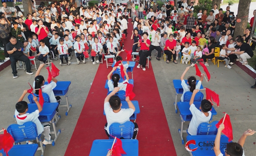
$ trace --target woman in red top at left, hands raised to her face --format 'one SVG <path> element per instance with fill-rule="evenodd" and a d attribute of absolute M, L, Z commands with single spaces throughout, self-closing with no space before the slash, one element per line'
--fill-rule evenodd
<path fill-rule="evenodd" d="M 42 20 L 38 20 L 38 26 L 35 27 L 35 33 L 38 35 L 38 40 L 44 40 L 45 45 L 50 49 L 50 43 L 49 43 L 49 30 L 47 26 L 44 26 L 44 23 Z"/>

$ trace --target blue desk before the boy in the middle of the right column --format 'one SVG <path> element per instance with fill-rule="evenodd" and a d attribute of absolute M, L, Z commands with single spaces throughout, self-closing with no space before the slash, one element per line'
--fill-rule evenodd
<path fill-rule="evenodd" d="M 198 109 L 201 106 L 201 102 L 194 102 L 194 104 L 195 104 L 195 107 L 197 107 Z M 184 144 L 182 134 L 186 133 L 186 130 L 183 130 L 183 124 L 184 124 L 185 121 L 191 121 L 192 113 L 189 110 L 189 107 L 190 107 L 189 102 L 178 102 L 177 106 L 180 110 L 180 120 L 181 120 L 181 127 L 178 131 L 180 133 L 181 142 L 182 142 L 182 144 Z M 214 107 L 212 107 L 211 112 L 212 112 L 212 116 L 217 115 L 217 112 L 214 109 Z M 210 118 L 210 121 L 212 120 L 212 116 Z"/>

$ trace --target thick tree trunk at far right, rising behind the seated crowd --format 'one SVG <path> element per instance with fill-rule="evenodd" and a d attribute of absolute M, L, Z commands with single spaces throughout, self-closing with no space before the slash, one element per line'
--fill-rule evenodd
<path fill-rule="evenodd" d="M 239 0 L 237 17 L 241 19 L 240 23 L 236 23 L 236 28 L 233 38 L 238 35 L 244 35 L 244 31 L 247 28 L 248 15 L 250 9 L 251 0 Z"/>

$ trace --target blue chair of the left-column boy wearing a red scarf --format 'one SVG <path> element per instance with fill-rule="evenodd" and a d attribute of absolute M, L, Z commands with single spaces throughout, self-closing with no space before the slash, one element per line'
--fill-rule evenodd
<path fill-rule="evenodd" d="M 41 134 L 38 136 L 37 127 L 34 122 L 28 121 L 22 125 L 11 124 L 7 128 L 7 132 L 11 134 L 15 141 L 15 144 L 30 140 L 36 140 L 37 142 L 40 143 L 40 147 L 38 148 L 38 150 L 41 150 L 41 156 L 44 156 L 45 146 L 43 146 Z"/>

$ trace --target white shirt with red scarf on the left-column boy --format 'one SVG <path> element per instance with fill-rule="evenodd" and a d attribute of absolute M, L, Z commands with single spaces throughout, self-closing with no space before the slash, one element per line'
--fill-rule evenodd
<path fill-rule="evenodd" d="M 32 121 L 36 124 L 38 136 L 44 132 L 44 126 L 41 124 L 41 122 L 38 119 L 39 110 L 35 110 L 35 112 L 26 113 L 23 115 L 19 115 L 19 114 L 20 113 L 17 110 L 15 110 L 15 118 L 16 118 L 17 124 L 22 125 L 28 121 Z M 24 117 L 26 117 L 26 118 L 24 118 Z M 22 118 L 24 118 L 24 119 L 22 119 Z"/>

